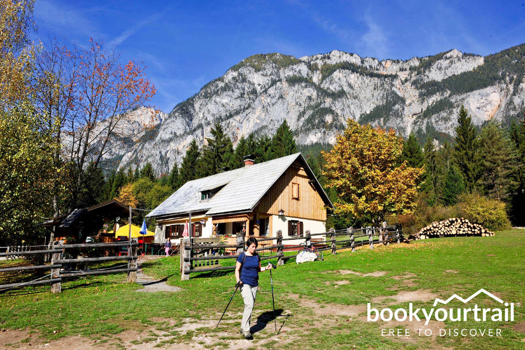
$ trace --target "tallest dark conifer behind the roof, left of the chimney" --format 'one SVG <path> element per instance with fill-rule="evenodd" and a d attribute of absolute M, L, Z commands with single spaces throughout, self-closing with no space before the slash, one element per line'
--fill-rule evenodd
<path fill-rule="evenodd" d="M 199 161 L 199 173 L 202 177 L 218 174 L 222 168 L 230 165 L 233 154 L 232 140 L 224 133 L 222 125 L 216 122 L 211 129 L 212 137 L 206 137 Z"/>

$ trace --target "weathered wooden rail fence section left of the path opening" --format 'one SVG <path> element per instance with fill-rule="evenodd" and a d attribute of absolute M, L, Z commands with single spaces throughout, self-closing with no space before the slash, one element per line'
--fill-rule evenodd
<path fill-rule="evenodd" d="M 89 275 L 101 275 L 101 274 L 110 274 L 117 272 L 127 272 L 128 273 L 128 282 L 134 283 L 137 279 L 137 247 L 139 246 L 136 242 L 111 242 L 111 243 L 83 243 L 83 244 L 70 244 L 70 245 L 60 245 L 58 242 L 53 244 L 51 249 L 38 249 L 37 246 L 29 248 L 37 249 L 24 249 L 24 250 L 14 250 L 7 249 L 5 252 L 0 253 L 0 257 L 29 257 L 29 256 L 38 256 L 39 254 L 52 254 L 51 263 L 47 265 L 34 265 L 34 266 L 18 266 L 18 267 L 8 267 L 0 269 L 2 272 L 15 272 L 15 271 L 50 271 L 44 277 L 37 278 L 32 281 L 27 282 L 15 282 L 9 284 L 0 284 L 0 292 L 7 289 L 25 287 L 27 285 L 39 285 L 39 284 L 51 284 L 51 292 L 60 293 L 61 292 L 61 282 L 68 278 L 76 278 Z M 79 248 L 113 248 L 113 247 L 127 247 L 128 253 L 125 256 L 111 256 L 111 257 L 96 257 L 96 258 L 68 258 L 62 259 L 62 253 L 67 253 L 70 249 L 79 249 Z M 12 247 L 11 247 L 12 248 Z M 65 254 L 67 256 L 67 254 Z M 43 259 L 38 259 L 43 261 Z M 76 271 L 70 270 L 69 267 L 72 264 L 88 264 L 88 263 L 99 263 L 105 261 L 125 261 L 126 263 L 122 266 L 125 268 L 102 268 L 95 270 L 85 270 L 85 271 Z"/>

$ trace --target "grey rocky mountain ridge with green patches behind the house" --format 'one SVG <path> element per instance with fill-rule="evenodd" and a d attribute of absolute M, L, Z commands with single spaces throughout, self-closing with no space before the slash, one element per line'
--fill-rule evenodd
<path fill-rule="evenodd" d="M 205 142 L 216 121 L 234 145 L 252 132 L 273 134 L 284 119 L 299 144 L 333 143 L 346 118 L 440 141 L 453 136 L 461 104 L 476 125 L 515 118 L 525 109 L 524 76 L 525 44 L 485 57 L 454 49 L 405 61 L 337 50 L 255 55 L 159 114 L 153 129 L 114 147 L 111 159 L 124 168 L 147 160 L 167 173 L 194 138 Z"/>

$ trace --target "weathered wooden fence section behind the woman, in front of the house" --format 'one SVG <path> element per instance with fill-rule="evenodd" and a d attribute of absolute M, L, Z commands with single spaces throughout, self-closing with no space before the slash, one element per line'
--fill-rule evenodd
<path fill-rule="evenodd" d="M 321 240 L 314 237 L 324 236 Z M 328 232 L 311 234 L 306 231 L 303 237 L 294 236 L 289 238 L 282 237 L 282 231 L 277 231 L 276 237 L 259 238 L 257 242 L 274 241 L 275 245 L 258 248 L 255 251 L 270 251 L 269 256 L 262 256 L 261 261 L 277 258 L 277 264 L 282 265 L 286 260 L 296 258 L 296 254 L 285 254 L 283 250 L 302 250 L 305 247 L 316 247 L 319 251 L 330 250 L 332 254 L 337 254 L 337 250 L 348 249 L 355 251 L 356 247 L 367 245 L 374 249 L 374 243 L 390 245 L 390 242 L 400 243 L 403 232 L 400 225 L 387 226 L 386 222 L 381 227 L 361 227 L 343 230 L 330 229 Z M 299 245 L 286 246 L 283 242 L 289 240 L 301 240 L 304 242 Z M 212 239 L 208 239 L 212 240 Z M 237 259 L 245 248 L 245 237 L 237 236 L 235 245 L 218 243 L 216 241 L 203 242 L 203 239 L 181 240 L 181 280 L 190 279 L 190 273 L 206 271 L 234 270 L 235 265 L 223 266 L 220 261 L 223 259 Z M 237 249 L 233 255 L 218 254 L 219 250 Z"/>

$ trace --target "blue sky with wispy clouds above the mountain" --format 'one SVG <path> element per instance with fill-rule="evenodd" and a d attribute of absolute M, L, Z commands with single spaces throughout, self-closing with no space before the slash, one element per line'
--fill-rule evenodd
<path fill-rule="evenodd" d="M 524 0 L 525 1 L 525 0 Z M 525 42 L 522 1 L 61 1 L 37 0 L 34 39 L 89 38 L 143 62 L 170 112 L 254 54 L 342 50 L 409 59 L 457 48 L 488 55 Z"/>

